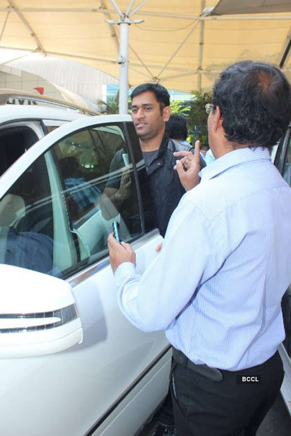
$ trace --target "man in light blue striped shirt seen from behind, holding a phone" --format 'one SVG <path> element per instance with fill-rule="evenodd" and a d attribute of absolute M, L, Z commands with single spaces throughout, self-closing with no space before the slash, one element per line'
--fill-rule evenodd
<path fill-rule="evenodd" d="M 221 73 L 207 110 L 216 160 L 198 184 L 198 153 L 175 153 L 189 189 L 159 256 L 139 276 L 130 245 L 111 234 L 110 261 L 121 311 L 173 346 L 177 435 L 255 436 L 284 375 L 291 188 L 269 148 L 291 119 L 291 87 L 272 65 L 238 62 Z"/>

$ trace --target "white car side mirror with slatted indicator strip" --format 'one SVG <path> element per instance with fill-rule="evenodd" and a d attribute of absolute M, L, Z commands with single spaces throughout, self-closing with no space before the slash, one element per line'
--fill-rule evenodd
<path fill-rule="evenodd" d="M 0 358 L 42 356 L 82 342 L 68 282 L 3 264 L 0 277 Z"/>

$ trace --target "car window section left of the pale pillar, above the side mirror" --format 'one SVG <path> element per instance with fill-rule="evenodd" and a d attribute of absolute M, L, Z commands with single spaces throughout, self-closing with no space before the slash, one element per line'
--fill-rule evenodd
<path fill-rule="evenodd" d="M 0 200 L 0 262 L 51 274 L 53 239 L 49 174 L 41 157 Z"/>

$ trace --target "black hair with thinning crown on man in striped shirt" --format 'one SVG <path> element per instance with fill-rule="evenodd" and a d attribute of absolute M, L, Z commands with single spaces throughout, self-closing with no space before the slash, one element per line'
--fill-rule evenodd
<path fill-rule="evenodd" d="M 253 61 L 234 63 L 220 74 L 212 103 L 219 106 L 226 139 L 272 147 L 291 119 L 291 87 L 275 66 Z"/>

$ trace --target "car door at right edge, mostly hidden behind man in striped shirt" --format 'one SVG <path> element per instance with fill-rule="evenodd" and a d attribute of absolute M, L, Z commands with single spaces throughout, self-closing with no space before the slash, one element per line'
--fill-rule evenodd
<path fill-rule="evenodd" d="M 291 126 L 289 126 L 285 137 L 280 141 L 275 157 L 275 165 L 291 187 Z M 280 355 L 285 371 L 281 393 L 291 414 L 291 285 L 282 298 L 282 313 L 286 337 L 280 347 Z"/>

